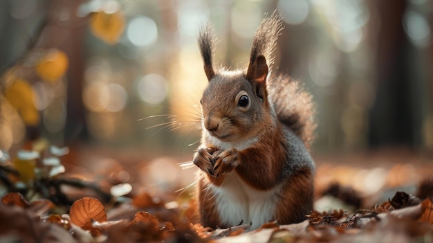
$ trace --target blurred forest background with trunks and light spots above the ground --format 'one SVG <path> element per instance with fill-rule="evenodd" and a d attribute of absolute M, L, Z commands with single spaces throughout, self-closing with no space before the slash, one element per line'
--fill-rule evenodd
<path fill-rule="evenodd" d="M 45 138 L 77 153 L 172 157 L 162 170 L 192 159 L 207 83 L 199 26 L 214 25 L 216 63 L 242 68 L 275 9 L 273 72 L 313 93 L 313 154 L 431 156 L 432 0 L 0 1 L 1 151 Z"/>

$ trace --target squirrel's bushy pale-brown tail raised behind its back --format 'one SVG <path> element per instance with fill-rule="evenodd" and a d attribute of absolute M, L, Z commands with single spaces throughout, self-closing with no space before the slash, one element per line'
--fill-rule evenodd
<path fill-rule="evenodd" d="M 304 91 L 297 80 L 287 76 L 270 79 L 268 93 L 278 120 L 299 136 L 309 149 L 316 128 L 311 94 Z"/>

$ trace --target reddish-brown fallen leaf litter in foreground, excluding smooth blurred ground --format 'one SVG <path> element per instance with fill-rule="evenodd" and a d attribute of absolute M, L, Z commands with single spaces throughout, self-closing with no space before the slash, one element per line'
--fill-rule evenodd
<path fill-rule="evenodd" d="M 0 163 L 0 187 L 6 189 L 0 201 L 1 242 L 431 242 L 433 238 L 431 177 L 420 181 L 414 195 L 396 190 L 373 205 L 352 186 L 332 181 L 317 198 L 332 197 L 348 207 L 313 210 L 297 224 L 267 222 L 250 231 L 250 224 L 239 222 L 212 230 L 197 222 L 194 201 L 187 193 L 173 200 L 151 190 L 133 190 L 127 181 L 113 180 L 113 172 L 109 180 L 94 181 L 50 173 L 62 165 L 60 157 L 69 150 L 39 151 L 31 158 L 21 156 L 19 168 L 10 158 Z M 55 161 L 55 166 L 47 161 Z"/>

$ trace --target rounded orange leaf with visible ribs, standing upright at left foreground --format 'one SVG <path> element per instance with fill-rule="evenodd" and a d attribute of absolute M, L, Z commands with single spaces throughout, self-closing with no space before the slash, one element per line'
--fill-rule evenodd
<path fill-rule="evenodd" d="M 69 211 L 71 222 L 83 229 L 91 229 L 92 221 L 107 221 L 104 206 L 98 199 L 83 197 L 75 201 Z"/>

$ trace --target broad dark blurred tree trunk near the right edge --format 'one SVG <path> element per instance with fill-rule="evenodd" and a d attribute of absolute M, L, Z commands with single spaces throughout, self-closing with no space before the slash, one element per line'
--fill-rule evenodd
<path fill-rule="evenodd" d="M 427 96 L 427 73 L 405 34 L 403 20 L 408 2 L 369 1 L 369 33 L 376 46 L 376 100 L 369 113 L 369 145 L 419 147 Z M 431 45 L 430 45 L 431 50 Z M 421 73 L 421 75 L 419 75 Z"/>

